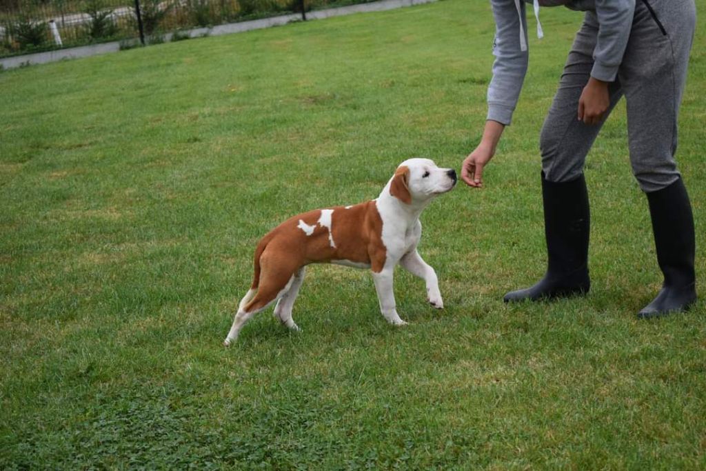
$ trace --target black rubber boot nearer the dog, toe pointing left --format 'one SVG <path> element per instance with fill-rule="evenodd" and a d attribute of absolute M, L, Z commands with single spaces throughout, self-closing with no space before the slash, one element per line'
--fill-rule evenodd
<path fill-rule="evenodd" d="M 553 183 L 544 179 L 542 172 L 542 200 L 549 256 L 546 275 L 532 287 L 505 294 L 505 302 L 568 297 L 590 290 L 590 212 L 586 179 L 582 174 L 572 181 Z"/>

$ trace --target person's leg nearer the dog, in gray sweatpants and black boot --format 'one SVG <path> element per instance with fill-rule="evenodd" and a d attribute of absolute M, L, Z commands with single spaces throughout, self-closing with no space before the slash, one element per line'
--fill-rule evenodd
<path fill-rule="evenodd" d="M 587 13 L 542 127 L 542 200 L 548 263 L 546 275 L 525 290 L 505 294 L 505 302 L 536 300 L 585 293 L 590 289 L 588 240 L 590 211 L 583 165 L 602 124 L 578 121 L 578 101 L 593 67 L 598 33 L 594 13 Z M 622 96 L 611 84 L 611 106 Z"/>

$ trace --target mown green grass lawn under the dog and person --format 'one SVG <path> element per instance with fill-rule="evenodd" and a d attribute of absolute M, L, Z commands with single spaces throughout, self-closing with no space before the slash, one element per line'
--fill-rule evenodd
<path fill-rule="evenodd" d="M 230 349 L 271 227 L 376 197 L 408 157 L 459 169 L 485 119 L 489 2 L 0 73 L 0 468 L 703 469 L 705 302 L 635 318 L 662 278 L 624 103 L 587 164 L 592 292 L 501 301 L 544 273 L 539 129 L 581 15 L 542 20 L 486 188 L 422 215 L 445 309 L 400 270 L 393 328 L 369 273 L 315 266 L 303 332 L 267 311 Z M 678 151 L 700 287 L 705 77 L 700 20 Z"/>

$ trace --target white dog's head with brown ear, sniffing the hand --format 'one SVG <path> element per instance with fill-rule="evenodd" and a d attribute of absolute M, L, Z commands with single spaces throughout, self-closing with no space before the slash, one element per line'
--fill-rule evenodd
<path fill-rule="evenodd" d="M 457 181 L 454 169 L 442 169 L 429 159 L 402 162 L 390 181 L 390 194 L 402 203 L 424 203 L 451 191 Z"/>

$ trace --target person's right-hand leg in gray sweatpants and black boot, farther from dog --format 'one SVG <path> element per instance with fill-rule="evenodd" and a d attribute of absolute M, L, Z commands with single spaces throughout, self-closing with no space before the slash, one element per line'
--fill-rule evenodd
<path fill-rule="evenodd" d="M 618 77 L 628 109 L 630 163 L 647 194 L 664 285 L 638 316 L 686 311 L 696 299 L 694 222 L 676 168 L 677 119 L 695 28 L 693 0 L 638 0 Z"/>

